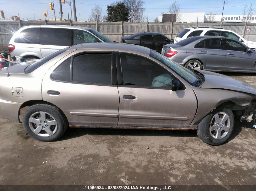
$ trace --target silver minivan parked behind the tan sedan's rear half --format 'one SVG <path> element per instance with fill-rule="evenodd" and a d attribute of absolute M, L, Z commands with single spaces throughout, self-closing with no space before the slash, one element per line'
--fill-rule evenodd
<path fill-rule="evenodd" d="M 67 46 L 97 42 L 113 40 L 87 27 L 31 25 L 15 32 L 8 49 L 16 59 L 41 59 Z"/>

